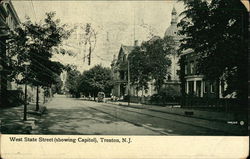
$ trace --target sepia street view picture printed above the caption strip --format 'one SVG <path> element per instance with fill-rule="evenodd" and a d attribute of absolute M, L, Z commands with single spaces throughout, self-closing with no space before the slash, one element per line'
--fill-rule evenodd
<path fill-rule="evenodd" d="M 0 132 L 247 136 L 248 15 L 236 0 L 2 0 Z"/>

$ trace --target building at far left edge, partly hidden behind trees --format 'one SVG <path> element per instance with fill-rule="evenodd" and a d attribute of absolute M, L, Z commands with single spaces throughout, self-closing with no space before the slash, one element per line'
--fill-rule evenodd
<path fill-rule="evenodd" d="M 15 29 L 21 24 L 11 0 L 0 2 L 0 106 L 8 104 L 16 105 L 19 99 L 23 98 L 24 85 L 11 82 L 7 78 L 6 56 L 8 55 L 8 39 Z M 43 99 L 44 90 L 39 89 L 39 98 Z M 29 102 L 36 100 L 36 89 L 33 86 L 27 87 Z"/>

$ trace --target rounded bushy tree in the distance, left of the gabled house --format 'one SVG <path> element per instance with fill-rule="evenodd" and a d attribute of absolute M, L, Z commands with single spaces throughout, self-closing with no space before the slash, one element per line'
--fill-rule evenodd
<path fill-rule="evenodd" d="M 94 97 L 98 92 L 110 94 L 112 89 L 111 70 L 101 65 L 96 65 L 88 71 L 84 71 L 79 79 L 79 87 L 85 95 Z"/>

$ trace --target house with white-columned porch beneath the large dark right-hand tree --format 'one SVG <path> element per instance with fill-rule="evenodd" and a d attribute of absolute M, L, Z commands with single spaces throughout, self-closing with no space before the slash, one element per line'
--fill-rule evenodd
<path fill-rule="evenodd" d="M 198 67 L 199 56 L 191 49 L 180 55 L 182 107 L 216 107 L 217 109 L 237 109 L 236 92 L 225 96 L 227 83 L 224 77 L 211 81 L 201 74 Z M 238 107 L 239 108 L 239 107 Z"/>

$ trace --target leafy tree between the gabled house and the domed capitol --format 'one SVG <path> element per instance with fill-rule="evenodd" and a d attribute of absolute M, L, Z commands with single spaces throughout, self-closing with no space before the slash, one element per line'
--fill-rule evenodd
<path fill-rule="evenodd" d="M 137 89 L 148 89 L 148 82 L 155 81 L 156 90 L 159 92 L 166 76 L 171 60 L 168 55 L 174 51 L 172 37 L 154 37 L 142 43 L 141 47 L 135 47 L 129 54 L 131 82 L 137 85 Z"/>

